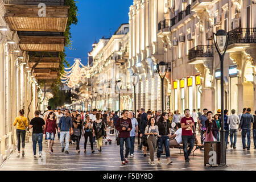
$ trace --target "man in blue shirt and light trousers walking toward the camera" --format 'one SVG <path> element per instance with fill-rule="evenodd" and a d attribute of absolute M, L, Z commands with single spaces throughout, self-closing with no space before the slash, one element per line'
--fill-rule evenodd
<path fill-rule="evenodd" d="M 65 153 L 69 154 L 68 152 L 68 144 L 69 144 L 69 130 L 71 130 L 71 135 L 73 134 L 73 122 L 71 117 L 68 117 L 69 111 L 65 109 L 64 111 L 64 116 L 60 118 L 59 122 L 59 132 L 60 132 L 60 144 L 61 144 L 61 152 L 64 152 L 65 148 Z M 66 147 L 64 146 L 64 138 L 66 142 Z"/>

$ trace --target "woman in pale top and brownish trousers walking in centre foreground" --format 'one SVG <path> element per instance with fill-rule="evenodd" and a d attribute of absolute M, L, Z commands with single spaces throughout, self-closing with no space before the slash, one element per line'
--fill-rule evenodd
<path fill-rule="evenodd" d="M 145 129 L 145 135 L 147 135 L 147 144 L 148 147 L 150 148 L 150 158 L 149 158 L 149 163 L 152 166 L 155 166 L 154 162 L 154 153 L 155 153 L 155 148 L 156 148 L 156 141 L 158 140 L 158 126 L 155 125 L 155 118 L 151 117 L 148 120 L 148 125 Z"/>

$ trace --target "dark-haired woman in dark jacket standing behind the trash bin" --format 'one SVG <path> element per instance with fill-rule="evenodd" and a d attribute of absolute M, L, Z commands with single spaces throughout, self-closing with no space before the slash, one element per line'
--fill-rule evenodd
<path fill-rule="evenodd" d="M 208 119 L 205 121 L 205 127 L 207 128 L 205 132 L 205 142 L 214 142 L 217 138 L 217 123 L 212 118 L 212 111 L 207 112 Z"/>

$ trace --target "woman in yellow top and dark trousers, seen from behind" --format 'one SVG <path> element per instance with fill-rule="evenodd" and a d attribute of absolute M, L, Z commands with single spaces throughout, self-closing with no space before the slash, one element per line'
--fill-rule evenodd
<path fill-rule="evenodd" d="M 22 156 L 25 155 L 25 137 L 26 137 L 26 127 L 28 126 L 27 118 L 24 117 L 24 109 L 19 110 L 19 117 L 15 118 L 13 126 L 16 126 L 16 135 L 18 139 L 18 155 L 20 155 L 20 137 L 22 138 Z M 26 127 L 25 127 L 26 126 Z"/>

